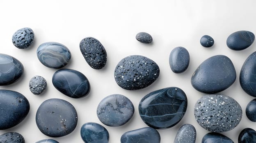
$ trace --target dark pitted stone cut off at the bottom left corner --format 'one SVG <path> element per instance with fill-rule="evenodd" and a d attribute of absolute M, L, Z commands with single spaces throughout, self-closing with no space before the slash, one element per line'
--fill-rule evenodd
<path fill-rule="evenodd" d="M 25 143 L 25 139 L 19 133 L 7 132 L 0 135 L 0 143 Z"/>

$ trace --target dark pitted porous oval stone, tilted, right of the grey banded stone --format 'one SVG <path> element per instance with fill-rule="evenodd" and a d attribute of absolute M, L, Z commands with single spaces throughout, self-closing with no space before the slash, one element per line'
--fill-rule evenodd
<path fill-rule="evenodd" d="M 107 63 L 107 52 L 100 41 L 93 37 L 84 38 L 80 42 L 80 51 L 88 65 L 94 69 L 102 69 Z"/>

